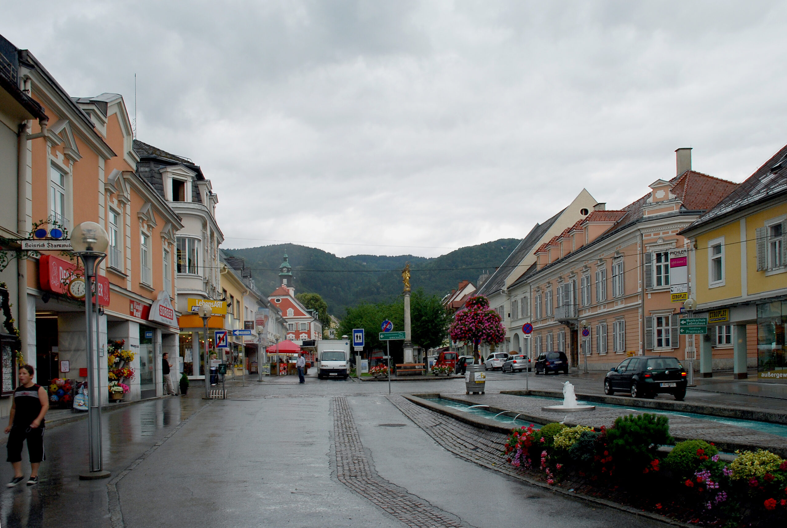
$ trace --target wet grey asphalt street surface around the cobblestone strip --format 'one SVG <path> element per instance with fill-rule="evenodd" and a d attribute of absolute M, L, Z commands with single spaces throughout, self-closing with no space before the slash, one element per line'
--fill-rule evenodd
<path fill-rule="evenodd" d="M 600 385 L 569 378 L 578 392 Z M 565 379 L 531 375 L 530 387 L 558 389 Z M 319 381 L 310 375 L 305 385 L 294 376 L 251 385 L 231 388 L 227 401 L 202 401 L 194 386 L 194 397 L 106 412 L 103 446 L 105 469 L 113 472 L 109 482 L 78 479 L 87 468 L 87 421 L 51 428 L 45 437 L 42 482 L 34 488 L 0 489 L 0 524 L 405 526 L 335 476 L 331 400 L 345 396 L 379 478 L 467 526 L 666 526 L 545 492 L 454 456 L 386 400 L 384 382 Z M 464 393 L 461 379 L 395 382 L 392 388 L 393 393 Z M 487 390 L 521 388 L 523 373 L 488 377 Z M 781 409 L 785 404 L 700 391 L 689 391 L 686 400 L 690 397 L 715 403 L 722 397 L 741 405 L 759 401 L 760 408 L 763 401 Z M 133 469 L 124 473 L 129 467 Z M 0 478 L 7 482 L 11 476 L 6 463 Z M 110 482 L 116 499 L 113 493 L 108 498 Z M 121 515 L 123 525 L 118 524 Z"/>

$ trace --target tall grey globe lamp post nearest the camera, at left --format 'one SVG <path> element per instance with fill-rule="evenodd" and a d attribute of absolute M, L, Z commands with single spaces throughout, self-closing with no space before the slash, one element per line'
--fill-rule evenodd
<path fill-rule="evenodd" d="M 104 228 L 95 222 L 83 222 L 74 228 L 71 234 L 74 253 L 79 255 L 85 265 L 85 353 L 87 355 L 87 438 L 90 458 L 90 471 L 79 474 L 81 480 L 108 478 L 109 471 L 102 469 L 101 445 L 101 393 L 99 375 L 101 364 L 94 354 L 101 345 L 98 341 L 99 327 L 96 317 L 96 351 L 93 350 L 93 282 L 98 271 L 98 264 L 106 258 L 109 237 Z M 96 305 L 98 305 L 98 288 L 96 288 Z M 98 370 L 98 372 L 96 372 Z"/>

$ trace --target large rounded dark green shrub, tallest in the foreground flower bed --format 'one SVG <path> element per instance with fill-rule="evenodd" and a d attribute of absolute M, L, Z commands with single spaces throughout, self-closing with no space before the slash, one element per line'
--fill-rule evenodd
<path fill-rule="evenodd" d="M 619 416 L 605 441 L 616 473 L 643 473 L 656 458 L 656 449 L 672 443 L 669 420 L 648 413 Z"/>

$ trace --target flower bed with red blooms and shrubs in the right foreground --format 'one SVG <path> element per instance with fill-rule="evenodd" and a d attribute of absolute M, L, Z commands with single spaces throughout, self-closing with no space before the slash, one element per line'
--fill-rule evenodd
<path fill-rule="evenodd" d="M 549 423 L 512 430 L 504 456 L 550 486 L 604 497 L 671 519 L 713 526 L 776 526 L 787 513 L 787 461 L 772 452 L 738 452 L 732 463 L 714 445 L 678 442 L 667 456 L 662 415 L 619 417 L 593 430 Z"/>

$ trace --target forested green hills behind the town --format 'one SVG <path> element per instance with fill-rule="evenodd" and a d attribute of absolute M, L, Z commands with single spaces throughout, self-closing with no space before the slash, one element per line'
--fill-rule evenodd
<path fill-rule="evenodd" d="M 401 294 L 401 269 L 410 263 L 410 284 L 427 295 L 447 294 L 460 280 L 475 284 L 482 270 L 493 270 L 508 257 L 519 240 L 501 238 L 478 246 L 467 246 L 440 257 L 412 255 L 386 257 L 353 255 L 336 257 L 322 249 L 296 244 L 278 244 L 246 249 L 224 249 L 232 257 L 246 260 L 257 289 L 265 295 L 279 286 L 279 264 L 287 253 L 293 268 L 296 293 L 320 294 L 328 312 L 342 317 L 347 306 L 363 302 L 390 301 Z"/>

